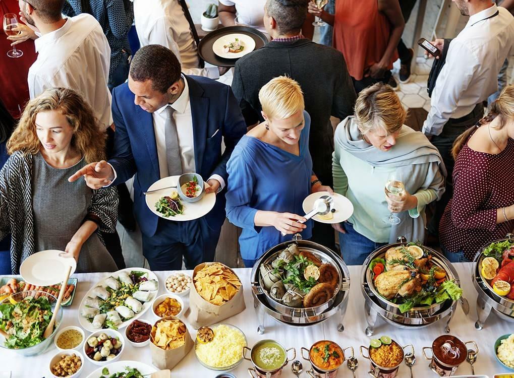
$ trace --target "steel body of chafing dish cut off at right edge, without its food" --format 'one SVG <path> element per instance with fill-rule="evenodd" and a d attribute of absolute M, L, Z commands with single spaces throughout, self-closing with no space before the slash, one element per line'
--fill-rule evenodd
<path fill-rule="evenodd" d="M 491 311 L 508 322 L 514 322 L 514 300 L 502 297 L 495 293 L 489 285 L 489 282 L 482 277 L 481 273 L 482 260 L 485 258 L 485 256 L 482 255 L 484 250 L 491 243 L 506 240 L 510 240 L 514 243 L 514 235 L 507 234 L 504 239 L 494 240 L 487 243 L 480 249 L 473 259 L 473 286 L 478 292 L 478 297 L 476 298 L 476 313 L 478 314 L 478 320 L 475 323 L 475 328 L 479 330 L 484 327 Z"/>

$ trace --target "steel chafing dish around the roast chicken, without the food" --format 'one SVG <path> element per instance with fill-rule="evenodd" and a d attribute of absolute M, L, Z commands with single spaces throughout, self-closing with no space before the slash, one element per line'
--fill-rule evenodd
<path fill-rule="evenodd" d="M 440 304 L 433 304 L 431 306 L 414 307 L 406 313 L 401 313 L 399 306 L 392 303 L 388 299 L 381 296 L 372 282 L 371 269 L 369 269 L 370 263 L 375 258 L 385 259 L 386 252 L 390 248 L 400 247 L 407 243 L 405 237 L 399 237 L 396 243 L 384 245 L 372 252 L 368 258 L 364 260 L 361 272 L 361 289 L 364 295 L 365 304 L 364 310 L 366 315 L 366 322 L 368 328 L 366 328 L 366 335 L 371 336 L 374 333 L 375 327 L 379 324 L 379 320 L 391 324 L 399 328 L 421 328 L 432 325 L 439 320 L 446 319 L 445 331 L 450 332 L 450 320 L 455 313 L 457 307 L 457 301 L 446 300 Z M 443 268 L 447 272 L 449 279 L 454 279 L 457 285 L 460 285 L 460 279 L 458 278 L 457 271 L 440 253 L 424 247 L 425 250 L 432 254 L 432 261 L 439 267 Z M 463 308 L 465 312 L 469 308 L 467 300 L 462 298 Z"/>

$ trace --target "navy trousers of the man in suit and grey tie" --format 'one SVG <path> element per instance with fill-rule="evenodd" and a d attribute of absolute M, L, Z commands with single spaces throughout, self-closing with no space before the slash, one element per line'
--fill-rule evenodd
<path fill-rule="evenodd" d="M 159 218 L 152 237 L 142 234 L 143 255 L 152 271 L 186 269 L 214 261 L 221 228 L 213 230 L 205 219 L 175 222 Z"/>

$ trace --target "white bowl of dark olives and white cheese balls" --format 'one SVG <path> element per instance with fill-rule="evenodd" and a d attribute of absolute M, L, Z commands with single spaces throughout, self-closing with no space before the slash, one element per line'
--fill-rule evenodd
<path fill-rule="evenodd" d="M 119 359 L 125 341 L 114 329 L 103 329 L 91 333 L 84 343 L 86 358 L 95 365 L 106 365 Z"/>

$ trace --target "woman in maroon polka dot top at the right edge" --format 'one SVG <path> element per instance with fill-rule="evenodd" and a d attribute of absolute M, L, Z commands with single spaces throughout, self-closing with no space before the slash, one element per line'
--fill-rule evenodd
<path fill-rule="evenodd" d="M 439 224 L 450 261 L 473 260 L 480 248 L 514 228 L 514 85 L 477 127 L 453 146 L 453 198 Z"/>

